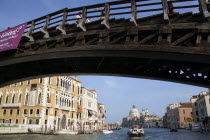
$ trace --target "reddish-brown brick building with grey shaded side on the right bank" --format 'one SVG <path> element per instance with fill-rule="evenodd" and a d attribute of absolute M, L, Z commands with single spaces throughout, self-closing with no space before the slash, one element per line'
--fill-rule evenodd
<path fill-rule="evenodd" d="M 192 123 L 192 104 L 174 103 L 167 108 L 167 127 L 184 128 Z"/>

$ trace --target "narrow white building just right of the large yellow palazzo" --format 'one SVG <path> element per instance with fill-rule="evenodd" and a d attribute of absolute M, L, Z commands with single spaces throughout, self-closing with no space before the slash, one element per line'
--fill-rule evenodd
<path fill-rule="evenodd" d="M 82 130 L 96 131 L 98 129 L 98 102 L 96 90 L 82 87 Z"/>

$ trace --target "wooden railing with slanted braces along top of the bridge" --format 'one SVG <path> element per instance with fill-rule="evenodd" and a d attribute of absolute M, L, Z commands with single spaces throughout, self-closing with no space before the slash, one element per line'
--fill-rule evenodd
<path fill-rule="evenodd" d="M 56 27 L 57 30 L 66 34 L 67 23 L 75 24 L 86 31 L 87 22 L 102 20 L 101 23 L 110 28 L 111 18 L 124 17 L 130 19 L 135 25 L 138 25 L 138 18 L 155 14 L 164 14 L 164 20 L 169 20 L 169 15 L 173 14 L 174 10 L 185 12 L 186 9 L 188 11 L 190 9 L 191 12 L 195 12 L 195 8 L 202 11 L 205 10 L 205 6 L 203 0 L 121 0 L 72 9 L 66 8 L 29 21 L 24 36 L 33 41 L 32 33 L 41 31 L 44 37 L 48 38 L 50 27 Z"/>

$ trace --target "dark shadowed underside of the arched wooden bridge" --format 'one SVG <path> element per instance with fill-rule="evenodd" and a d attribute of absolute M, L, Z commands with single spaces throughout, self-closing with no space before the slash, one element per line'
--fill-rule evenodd
<path fill-rule="evenodd" d="M 190 62 L 192 58 L 194 62 Z M 209 87 L 210 65 L 200 63 L 208 60 L 199 55 L 127 50 L 59 52 L 19 58 L 15 64 L 1 67 L 0 86 L 39 76 L 110 75 Z"/>

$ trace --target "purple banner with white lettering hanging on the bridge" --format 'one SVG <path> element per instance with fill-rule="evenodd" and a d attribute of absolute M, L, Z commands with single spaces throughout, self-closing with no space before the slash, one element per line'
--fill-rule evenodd
<path fill-rule="evenodd" d="M 16 49 L 26 26 L 27 23 L 24 23 L 0 32 L 0 52 Z"/>

